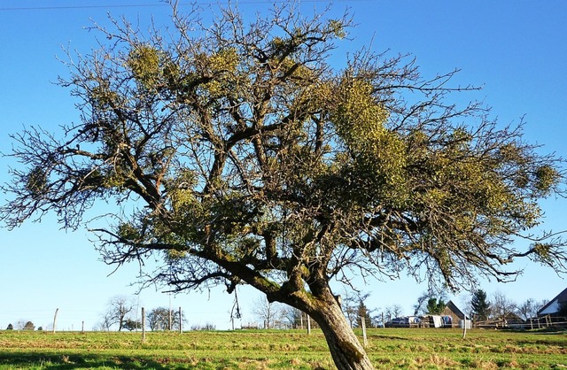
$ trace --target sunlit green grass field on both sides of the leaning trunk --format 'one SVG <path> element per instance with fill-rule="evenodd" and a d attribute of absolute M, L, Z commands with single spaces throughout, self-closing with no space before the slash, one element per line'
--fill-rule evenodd
<path fill-rule="evenodd" d="M 369 330 L 377 369 L 567 368 L 567 333 Z M 321 332 L 140 333 L 0 331 L 5 369 L 333 369 Z"/>

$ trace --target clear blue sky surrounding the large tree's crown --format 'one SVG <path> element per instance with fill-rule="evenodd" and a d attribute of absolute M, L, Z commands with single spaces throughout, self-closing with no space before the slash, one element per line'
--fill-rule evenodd
<path fill-rule="evenodd" d="M 182 10 L 184 4 L 181 1 Z M 226 1 L 197 1 L 206 5 L 204 16 Z M 265 12 L 266 1 L 240 1 L 246 14 Z M 108 4 L 105 5 L 105 4 Z M 329 1 L 301 0 L 306 14 L 322 10 Z M 210 5 L 210 7 L 208 7 Z M 471 2 L 423 2 L 354 0 L 335 1 L 330 14 L 346 7 L 357 24 L 350 30 L 352 41 L 339 43 L 338 52 L 370 46 L 390 50 L 390 55 L 409 53 L 424 76 L 461 72 L 454 84 L 482 86 L 479 92 L 455 96 L 459 102 L 482 100 L 492 107 L 491 115 L 502 125 L 518 123 L 522 117 L 525 140 L 542 144 L 542 152 L 567 158 L 563 144 L 567 135 L 567 2 L 527 0 L 478 0 Z M 97 47 L 93 21 L 107 23 L 107 13 L 125 16 L 142 24 L 154 19 L 166 24 L 170 9 L 159 0 L 2 0 L 0 1 L 0 152 L 12 148 L 10 134 L 23 127 L 39 126 L 56 131 L 58 126 L 79 120 L 69 91 L 57 86 L 58 75 L 66 75 L 65 49 L 86 54 Z M 341 60 L 338 58 L 337 60 Z M 10 158 L 0 158 L 0 182 L 10 181 Z M 4 202 L 6 195 L 1 195 Z M 546 214 L 542 229 L 567 229 L 567 201 L 550 198 L 542 202 Z M 187 327 L 211 323 L 230 328 L 229 312 L 234 296 L 222 288 L 176 296 L 163 289 L 132 286 L 136 266 L 113 266 L 100 261 L 85 229 L 66 231 L 54 217 L 41 223 L 24 223 L 9 231 L 0 225 L 0 329 L 31 320 L 36 327 L 49 328 L 56 309 L 59 330 L 90 330 L 97 327 L 110 298 L 132 297 L 146 312 L 159 306 L 182 307 Z M 521 245 L 520 245 L 521 246 Z M 517 281 L 501 284 L 480 281 L 478 287 L 489 297 L 496 292 L 522 303 L 528 298 L 549 300 L 567 288 L 567 280 L 529 261 Z M 408 278 L 398 281 L 358 281 L 369 293 L 366 305 L 376 312 L 399 304 L 405 314 L 424 290 Z M 469 287 L 470 288 L 470 287 Z M 344 290 L 343 290 L 344 291 Z M 339 294 L 343 291 L 338 291 Z M 255 322 L 252 313 L 260 293 L 240 289 L 243 318 L 236 326 Z M 463 305 L 468 293 L 449 294 Z"/>

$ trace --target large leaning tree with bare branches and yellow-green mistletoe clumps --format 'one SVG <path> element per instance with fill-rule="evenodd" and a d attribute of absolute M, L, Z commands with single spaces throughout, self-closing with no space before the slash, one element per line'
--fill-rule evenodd
<path fill-rule="evenodd" d="M 563 194 L 560 159 L 522 124 L 454 104 L 473 89 L 452 87 L 455 72 L 424 78 L 368 49 L 330 66 L 351 19 L 293 5 L 210 24 L 173 6 L 167 35 L 98 27 L 101 49 L 60 80 L 81 120 L 12 136 L 6 227 L 52 211 L 75 228 L 115 204 L 115 222 L 92 226 L 106 263 L 161 258 L 141 276 L 174 291 L 252 285 L 317 321 L 339 369 L 372 366 L 332 279 L 405 271 L 458 289 L 513 281 L 517 258 L 564 272 L 563 239 L 531 231 L 539 200 Z"/>

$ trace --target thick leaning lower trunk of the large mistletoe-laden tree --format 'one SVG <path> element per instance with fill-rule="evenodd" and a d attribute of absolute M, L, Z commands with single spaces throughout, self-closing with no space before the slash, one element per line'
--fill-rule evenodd
<path fill-rule="evenodd" d="M 312 317 L 327 339 L 330 354 L 338 370 L 374 369 L 334 297 L 330 296 L 330 300 L 327 298 L 325 304 L 320 304 L 319 309 L 312 312 Z"/>

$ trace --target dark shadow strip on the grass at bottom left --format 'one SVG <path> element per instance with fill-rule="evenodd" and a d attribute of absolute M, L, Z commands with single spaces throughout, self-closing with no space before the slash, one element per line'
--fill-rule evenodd
<path fill-rule="evenodd" d="M 108 357 L 81 354 L 81 355 L 61 355 L 55 353 L 0 353 L 0 368 L 4 366 L 16 368 L 35 368 L 50 370 L 71 370 L 71 369 L 154 369 L 154 370 L 171 370 L 171 369 L 202 369 L 202 368 L 218 368 L 222 364 L 207 364 L 202 366 L 196 364 L 194 359 L 176 358 L 143 358 L 130 356 L 113 356 Z M 221 366 L 223 368 L 224 366 Z"/>

